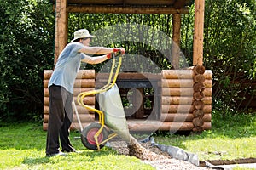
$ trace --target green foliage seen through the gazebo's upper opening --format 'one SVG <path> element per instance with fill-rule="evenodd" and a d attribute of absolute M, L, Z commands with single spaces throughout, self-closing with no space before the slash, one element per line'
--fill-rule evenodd
<path fill-rule="evenodd" d="M 142 55 L 151 59 L 162 69 L 172 67 L 170 61 L 166 59 L 166 54 L 160 53 L 160 50 L 168 49 L 171 43 L 171 14 L 69 14 L 69 20 L 72 20 L 68 24 L 69 40 L 73 38 L 74 31 L 86 28 L 92 34 L 96 34 L 91 45 L 110 47 L 114 42 L 115 46 L 124 47 L 127 54 Z M 155 38 L 160 37 L 156 36 L 156 31 L 170 37 L 170 42 L 166 43 Z M 141 62 L 132 59 L 131 56 L 125 62 L 139 64 L 143 67 Z M 99 71 L 102 65 L 86 65 L 85 68 Z"/>

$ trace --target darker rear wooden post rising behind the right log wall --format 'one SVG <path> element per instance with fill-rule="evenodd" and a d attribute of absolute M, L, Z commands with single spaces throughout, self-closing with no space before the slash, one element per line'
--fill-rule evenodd
<path fill-rule="evenodd" d="M 172 14 L 172 65 L 179 69 L 181 14 Z"/>

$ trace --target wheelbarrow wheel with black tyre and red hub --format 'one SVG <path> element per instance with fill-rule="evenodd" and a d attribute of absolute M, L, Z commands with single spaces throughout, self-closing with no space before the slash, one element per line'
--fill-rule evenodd
<path fill-rule="evenodd" d="M 84 130 L 81 133 L 81 139 L 84 146 L 89 150 L 97 150 L 96 141 L 94 139 L 94 135 L 98 132 L 98 130 L 102 127 L 100 123 L 90 123 L 87 127 L 84 128 Z M 105 127 L 103 127 L 102 132 L 98 136 L 98 142 L 99 144 L 104 141 L 105 139 L 108 139 L 108 131 Z M 100 144 L 100 149 L 104 147 L 106 143 Z"/>

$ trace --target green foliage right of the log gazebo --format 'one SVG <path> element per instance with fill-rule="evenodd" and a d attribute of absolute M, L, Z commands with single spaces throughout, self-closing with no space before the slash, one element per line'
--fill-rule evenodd
<path fill-rule="evenodd" d="M 213 73 L 213 101 L 224 108 L 239 109 L 246 95 L 253 93 L 255 8 L 254 0 L 206 1 L 204 62 Z"/>

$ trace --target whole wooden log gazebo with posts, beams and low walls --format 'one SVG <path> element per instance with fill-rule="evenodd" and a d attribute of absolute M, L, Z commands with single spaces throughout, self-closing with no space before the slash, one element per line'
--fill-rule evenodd
<path fill-rule="evenodd" d="M 54 1 L 53 1 L 54 2 Z M 113 14 L 172 14 L 172 64 L 176 70 L 164 70 L 160 80 L 159 120 L 132 120 L 130 130 L 184 130 L 201 132 L 211 128 L 212 71 L 203 64 L 203 26 L 205 0 L 195 0 L 195 26 L 193 42 L 193 70 L 177 70 L 179 67 L 179 44 L 181 14 L 188 14 L 192 1 L 88 1 L 55 0 L 55 63 L 67 44 L 69 13 L 113 13 Z M 55 64 L 54 63 L 54 64 Z M 47 85 L 52 71 L 44 71 L 44 130 L 47 129 L 49 114 L 49 91 Z M 74 97 L 79 92 L 95 88 L 95 71 L 80 71 L 74 84 Z M 140 89 L 142 91 L 142 89 Z M 139 95 L 139 94 L 137 94 Z M 84 99 L 87 105 L 95 105 L 95 96 Z M 78 106 L 83 126 L 95 121 L 93 113 Z M 84 113 L 87 112 L 87 113 Z M 84 116 L 86 115 L 86 116 Z M 137 115 L 141 116 L 141 115 Z M 75 116 L 74 116 L 75 117 Z M 73 119 L 72 129 L 79 127 Z"/>

